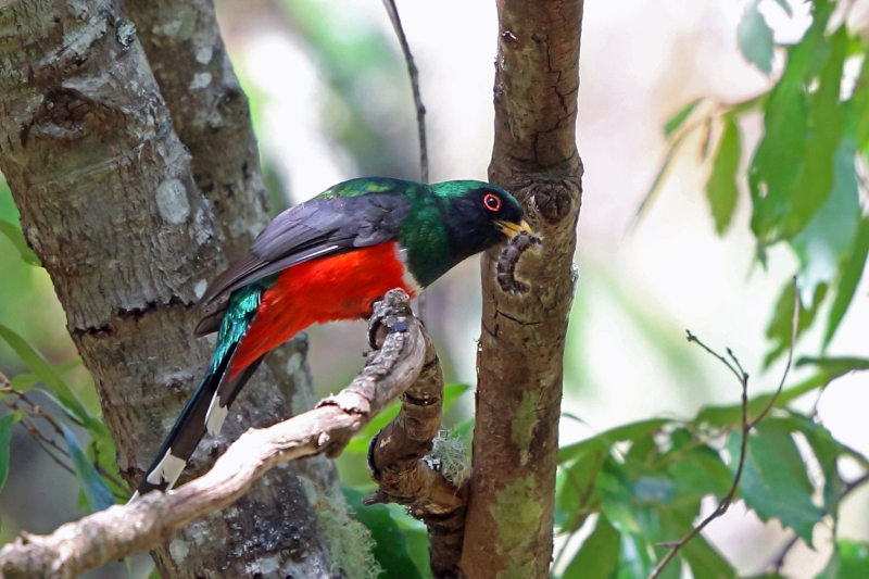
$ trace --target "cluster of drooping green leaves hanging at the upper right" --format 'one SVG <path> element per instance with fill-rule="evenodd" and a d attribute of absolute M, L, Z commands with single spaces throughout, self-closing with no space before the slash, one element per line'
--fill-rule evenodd
<path fill-rule="evenodd" d="M 777 3 L 793 16 L 786 1 Z M 811 25 L 804 37 L 777 48 L 759 4 L 750 2 L 739 27 L 739 46 L 748 62 L 773 77 L 774 52 L 783 52 L 780 77 L 767 92 L 742 102 L 719 102 L 698 114 L 701 100 L 695 99 L 677 111 L 664 126 L 670 153 L 640 212 L 655 198 L 685 136 L 703 128 L 701 156 L 710 164 L 706 196 L 716 230 L 723 235 L 738 198 L 741 122 L 763 115 L 764 135 L 747 172 L 757 257 L 766 264 L 767 249 L 776 243 L 793 250 L 799 262 L 799 335 L 815 324 L 821 306 L 831 303 L 824 311 L 826 349 L 855 297 L 869 253 L 858 176 L 860 160 L 869 160 L 869 42 L 848 30 L 846 20 L 833 22 L 836 2 L 811 0 Z M 856 75 L 847 72 L 849 62 L 859 64 Z M 714 133 L 719 144 L 707 156 Z M 785 290 L 767 330 L 772 348 L 766 366 L 790 345 L 788 300 L 793 298 Z"/>

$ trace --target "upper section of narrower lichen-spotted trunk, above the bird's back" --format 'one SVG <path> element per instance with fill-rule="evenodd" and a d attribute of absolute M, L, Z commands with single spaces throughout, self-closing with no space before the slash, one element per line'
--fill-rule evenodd
<path fill-rule="evenodd" d="M 268 193 L 248 97 L 232 71 L 212 0 L 127 0 L 193 179 L 232 261 L 268 222 Z"/>

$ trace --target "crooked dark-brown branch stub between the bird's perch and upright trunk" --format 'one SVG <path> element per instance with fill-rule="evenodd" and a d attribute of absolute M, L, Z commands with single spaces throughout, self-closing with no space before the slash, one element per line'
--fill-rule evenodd
<path fill-rule="evenodd" d="M 399 503 L 426 524 L 434 579 L 458 577 L 465 537 L 467 486 L 448 480 L 426 456 L 441 428 L 443 373 L 426 338 L 419 378 L 402 394 L 399 415 L 371 439 L 368 470 L 379 484 L 365 504 Z"/>

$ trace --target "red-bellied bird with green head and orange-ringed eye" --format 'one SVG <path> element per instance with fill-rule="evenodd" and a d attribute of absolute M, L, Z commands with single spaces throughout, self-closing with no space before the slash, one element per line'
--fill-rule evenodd
<path fill-rule="evenodd" d="M 401 288 L 411 298 L 467 257 L 531 228 L 504 189 L 367 177 L 277 215 L 200 300 L 196 336 L 217 332 L 211 364 L 131 501 L 168 491 L 263 357 L 313 324 L 369 317 Z"/>

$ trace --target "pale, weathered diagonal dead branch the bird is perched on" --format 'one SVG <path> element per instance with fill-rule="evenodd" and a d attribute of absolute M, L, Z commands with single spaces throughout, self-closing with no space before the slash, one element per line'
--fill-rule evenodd
<path fill-rule="evenodd" d="M 270 428 L 248 430 L 207 474 L 163 494 L 153 492 L 58 528 L 23 534 L 0 551 L 0 576 L 73 578 L 104 563 L 160 545 L 184 526 L 241 498 L 275 466 L 320 453 L 336 455 L 350 438 L 412 385 L 427 339 L 410 299 L 391 290 L 370 322 L 378 350 L 340 393 Z"/>

